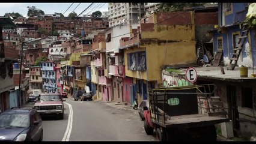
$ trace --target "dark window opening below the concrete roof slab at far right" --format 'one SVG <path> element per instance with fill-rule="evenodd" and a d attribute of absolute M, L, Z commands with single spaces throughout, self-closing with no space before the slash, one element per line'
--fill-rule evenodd
<path fill-rule="evenodd" d="M 252 88 L 242 88 L 242 106 L 253 109 Z"/>

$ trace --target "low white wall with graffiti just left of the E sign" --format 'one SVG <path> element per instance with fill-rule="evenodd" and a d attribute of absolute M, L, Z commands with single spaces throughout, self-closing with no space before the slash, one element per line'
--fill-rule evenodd
<path fill-rule="evenodd" d="M 188 82 L 186 79 L 182 77 L 174 77 L 163 74 L 163 83 L 162 87 L 176 87 L 176 86 L 190 86 L 193 83 Z"/>

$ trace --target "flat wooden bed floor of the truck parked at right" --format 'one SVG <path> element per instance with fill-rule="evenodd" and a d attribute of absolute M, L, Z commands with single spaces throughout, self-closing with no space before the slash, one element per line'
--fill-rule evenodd
<path fill-rule="evenodd" d="M 162 116 L 159 117 L 159 121 L 154 123 L 161 125 L 162 127 L 201 127 L 206 125 L 215 125 L 222 122 L 230 121 L 228 118 L 221 118 L 216 116 L 209 116 L 204 114 L 195 115 L 181 115 L 181 116 L 171 116 L 170 119 L 166 120 L 165 123 L 162 122 Z"/>

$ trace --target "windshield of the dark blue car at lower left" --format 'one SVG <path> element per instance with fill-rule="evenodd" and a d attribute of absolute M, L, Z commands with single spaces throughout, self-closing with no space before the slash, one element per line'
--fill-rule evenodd
<path fill-rule="evenodd" d="M 29 116 L 22 113 L 7 113 L 0 115 L 0 128 L 28 127 Z"/>

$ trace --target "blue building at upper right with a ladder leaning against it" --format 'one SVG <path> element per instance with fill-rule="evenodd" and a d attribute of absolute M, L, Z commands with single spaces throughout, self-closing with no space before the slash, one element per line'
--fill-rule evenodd
<path fill-rule="evenodd" d="M 242 36 L 242 23 L 246 19 L 249 3 L 219 3 L 218 4 L 218 28 L 213 29 L 209 34 L 213 35 L 214 55 L 222 50 L 224 65 L 230 63 L 234 49 Z M 242 46 L 237 65 L 248 65 L 252 67 L 253 60 L 256 60 L 254 31 L 249 29 L 248 36 Z M 255 67 L 256 64 L 254 64 Z"/>

